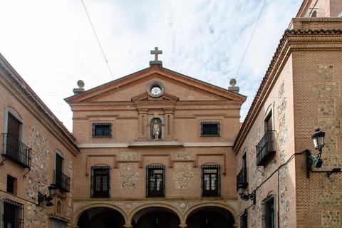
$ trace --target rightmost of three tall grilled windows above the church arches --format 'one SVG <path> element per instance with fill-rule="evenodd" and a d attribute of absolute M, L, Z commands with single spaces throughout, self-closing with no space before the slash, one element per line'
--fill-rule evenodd
<path fill-rule="evenodd" d="M 219 165 L 202 165 L 202 197 L 219 197 Z"/>

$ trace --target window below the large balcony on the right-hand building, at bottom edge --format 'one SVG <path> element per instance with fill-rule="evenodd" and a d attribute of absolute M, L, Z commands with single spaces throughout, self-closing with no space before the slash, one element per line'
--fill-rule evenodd
<path fill-rule="evenodd" d="M 274 209 L 274 195 L 269 195 L 262 201 L 262 227 L 275 227 L 275 209 Z"/>

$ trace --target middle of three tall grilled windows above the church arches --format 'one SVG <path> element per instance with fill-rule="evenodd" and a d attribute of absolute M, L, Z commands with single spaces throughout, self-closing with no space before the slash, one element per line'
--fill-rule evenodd
<path fill-rule="evenodd" d="M 146 197 L 165 197 L 165 166 L 149 165 L 146 167 Z"/>

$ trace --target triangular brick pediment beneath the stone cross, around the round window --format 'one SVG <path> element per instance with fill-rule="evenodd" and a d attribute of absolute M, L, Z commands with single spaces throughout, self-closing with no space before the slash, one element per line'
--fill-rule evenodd
<path fill-rule="evenodd" d="M 153 81 L 165 86 L 165 92 L 159 100 L 246 100 L 239 93 L 157 66 L 118 78 L 65 100 L 67 103 L 150 100 L 147 85 Z"/>

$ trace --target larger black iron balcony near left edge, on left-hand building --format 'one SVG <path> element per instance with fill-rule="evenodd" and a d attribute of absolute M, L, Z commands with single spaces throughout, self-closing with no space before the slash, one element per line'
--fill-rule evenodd
<path fill-rule="evenodd" d="M 4 152 L 2 155 L 24 168 L 31 167 L 31 148 L 28 148 L 23 142 L 9 133 L 4 134 Z"/>

